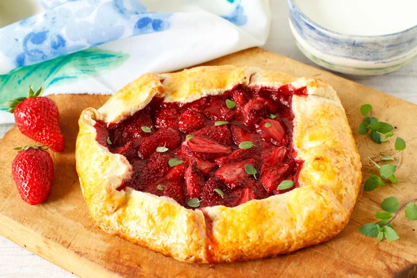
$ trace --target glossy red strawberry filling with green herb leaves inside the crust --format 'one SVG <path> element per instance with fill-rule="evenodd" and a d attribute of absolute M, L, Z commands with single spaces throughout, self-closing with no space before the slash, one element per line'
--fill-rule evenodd
<path fill-rule="evenodd" d="M 293 95 L 306 88 L 236 85 L 188 104 L 153 99 L 120 123 L 97 121 L 96 140 L 133 166 L 119 190 L 171 197 L 187 208 L 238 206 L 299 186 Z M 279 189 L 282 181 L 293 186 Z"/>

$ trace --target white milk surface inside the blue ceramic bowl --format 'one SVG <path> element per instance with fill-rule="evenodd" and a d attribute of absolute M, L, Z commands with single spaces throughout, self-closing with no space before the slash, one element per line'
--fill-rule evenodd
<path fill-rule="evenodd" d="M 295 0 L 313 22 L 349 35 L 385 35 L 417 26 L 417 0 Z"/>

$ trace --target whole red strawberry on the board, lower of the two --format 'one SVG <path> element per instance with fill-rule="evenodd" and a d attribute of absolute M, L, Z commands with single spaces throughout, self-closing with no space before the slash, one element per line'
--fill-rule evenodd
<path fill-rule="evenodd" d="M 28 145 L 12 163 L 12 174 L 24 202 L 35 205 L 44 202 L 51 193 L 54 163 L 44 146 Z"/>

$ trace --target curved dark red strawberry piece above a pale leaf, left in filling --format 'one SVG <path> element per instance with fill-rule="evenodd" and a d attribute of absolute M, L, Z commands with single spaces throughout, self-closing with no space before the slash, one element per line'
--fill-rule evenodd
<path fill-rule="evenodd" d="M 181 133 L 170 127 L 159 129 L 151 136 L 143 138 L 138 154 L 142 158 L 148 158 L 157 147 L 165 146 L 168 149 L 175 149 L 181 144 Z"/>

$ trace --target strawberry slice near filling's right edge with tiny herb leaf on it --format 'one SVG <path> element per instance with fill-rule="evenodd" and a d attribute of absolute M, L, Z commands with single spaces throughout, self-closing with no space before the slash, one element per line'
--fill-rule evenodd
<path fill-rule="evenodd" d="M 259 123 L 257 131 L 266 142 L 271 142 L 276 146 L 286 145 L 285 127 L 284 124 L 281 124 L 278 120 L 262 120 L 261 123 Z"/>

